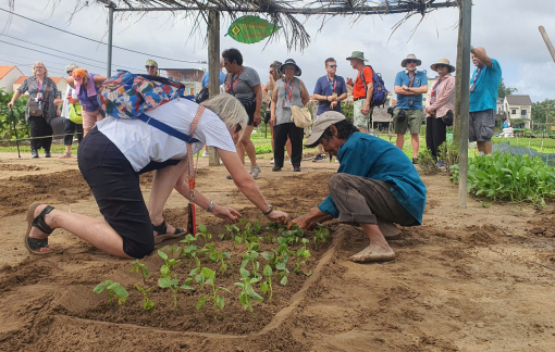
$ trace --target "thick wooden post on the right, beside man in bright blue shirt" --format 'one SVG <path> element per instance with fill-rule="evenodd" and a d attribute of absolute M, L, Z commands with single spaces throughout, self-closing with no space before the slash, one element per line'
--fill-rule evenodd
<path fill-rule="evenodd" d="M 460 144 L 459 144 L 459 176 L 458 176 L 458 203 L 460 208 L 467 208 L 468 185 L 468 123 L 469 123 L 469 86 L 470 86 L 470 39 L 472 24 L 472 0 L 462 0 L 462 21 L 460 52 L 462 70 L 457 80 L 460 81 L 459 115 L 460 115 Z"/>

